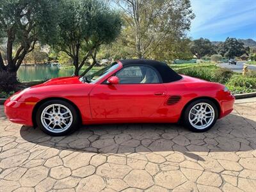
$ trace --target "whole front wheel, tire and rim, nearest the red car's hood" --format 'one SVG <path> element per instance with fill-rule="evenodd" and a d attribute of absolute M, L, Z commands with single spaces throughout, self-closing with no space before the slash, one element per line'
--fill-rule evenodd
<path fill-rule="evenodd" d="M 74 106 L 68 102 L 49 100 L 38 108 L 36 123 L 46 134 L 63 136 L 78 129 L 79 116 Z"/>

